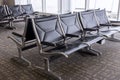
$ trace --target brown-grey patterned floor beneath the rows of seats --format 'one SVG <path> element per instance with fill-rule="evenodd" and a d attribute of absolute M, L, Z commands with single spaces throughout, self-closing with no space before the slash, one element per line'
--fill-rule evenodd
<path fill-rule="evenodd" d="M 22 32 L 24 24 L 15 24 L 15 27 L 16 30 L 0 28 L 0 80 L 49 80 L 11 60 L 18 52 L 15 43 L 7 37 L 12 31 Z M 68 59 L 61 57 L 51 62 L 51 69 L 63 80 L 120 80 L 120 42 L 106 41 L 104 45 L 93 45 L 93 48 L 103 54 L 90 56 L 76 52 Z M 34 65 L 43 66 L 37 51 L 33 48 L 23 54 Z"/>

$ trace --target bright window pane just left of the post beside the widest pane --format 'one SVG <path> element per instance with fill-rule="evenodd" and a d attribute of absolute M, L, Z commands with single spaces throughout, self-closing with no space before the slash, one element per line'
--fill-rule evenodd
<path fill-rule="evenodd" d="M 83 11 L 85 10 L 85 0 L 71 0 L 72 11 Z"/>

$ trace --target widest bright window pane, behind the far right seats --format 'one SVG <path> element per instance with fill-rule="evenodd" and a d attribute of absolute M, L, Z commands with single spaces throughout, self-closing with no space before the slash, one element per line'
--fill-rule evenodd
<path fill-rule="evenodd" d="M 108 18 L 117 19 L 119 0 L 90 0 L 90 9 L 106 9 Z"/>

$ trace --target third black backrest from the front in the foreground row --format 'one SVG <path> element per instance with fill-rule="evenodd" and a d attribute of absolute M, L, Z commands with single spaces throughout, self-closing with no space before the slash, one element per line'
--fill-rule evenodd
<path fill-rule="evenodd" d="M 86 11 L 78 13 L 79 19 L 84 28 L 94 28 L 98 26 L 94 11 Z"/>

